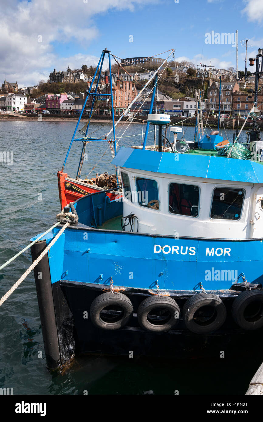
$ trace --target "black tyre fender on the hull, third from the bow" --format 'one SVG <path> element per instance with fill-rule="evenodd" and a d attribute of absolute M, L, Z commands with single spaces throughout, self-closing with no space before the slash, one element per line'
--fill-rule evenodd
<path fill-rule="evenodd" d="M 185 302 L 183 316 L 186 327 L 193 333 L 211 333 L 225 322 L 227 311 L 218 296 L 198 293 Z"/>

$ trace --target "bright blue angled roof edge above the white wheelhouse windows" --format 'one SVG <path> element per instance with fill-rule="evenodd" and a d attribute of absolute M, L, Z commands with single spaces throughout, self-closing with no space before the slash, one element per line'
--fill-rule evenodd
<path fill-rule="evenodd" d="M 201 153 L 201 151 L 200 151 Z M 263 165 L 217 155 L 175 154 L 121 147 L 112 164 L 154 173 L 263 183 Z"/>

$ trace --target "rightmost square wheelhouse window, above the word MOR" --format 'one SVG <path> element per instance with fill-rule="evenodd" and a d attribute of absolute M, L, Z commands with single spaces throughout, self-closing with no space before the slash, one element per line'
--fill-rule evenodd
<path fill-rule="evenodd" d="M 244 196 L 244 189 L 225 187 L 215 188 L 211 206 L 211 218 L 239 220 Z"/>

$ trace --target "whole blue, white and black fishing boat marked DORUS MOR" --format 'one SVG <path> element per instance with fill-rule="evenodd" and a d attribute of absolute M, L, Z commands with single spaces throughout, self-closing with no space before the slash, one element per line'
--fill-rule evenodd
<path fill-rule="evenodd" d="M 174 129 L 173 143 L 163 139 L 170 116 L 152 113 L 158 72 L 141 149 L 114 154 L 122 195 L 110 197 L 114 187 L 70 202 L 31 247 L 35 260 L 52 245 L 34 270 L 48 368 L 85 353 L 219 357 L 262 348 L 259 133 L 246 145 L 241 131 L 233 142 L 213 131 L 191 144 Z M 150 125 L 158 145 L 149 147 Z"/>

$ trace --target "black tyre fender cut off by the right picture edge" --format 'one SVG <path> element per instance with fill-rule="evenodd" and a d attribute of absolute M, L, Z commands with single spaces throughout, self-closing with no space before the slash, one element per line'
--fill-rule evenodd
<path fill-rule="evenodd" d="M 244 330 L 263 327 L 263 292 L 255 289 L 239 293 L 233 301 L 232 317 Z"/>

